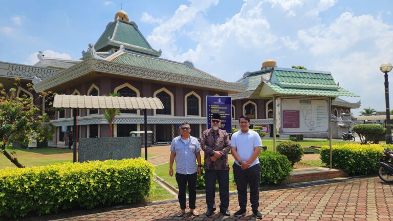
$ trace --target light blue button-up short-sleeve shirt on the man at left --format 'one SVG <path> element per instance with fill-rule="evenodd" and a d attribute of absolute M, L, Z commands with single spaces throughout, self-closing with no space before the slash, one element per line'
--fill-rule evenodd
<path fill-rule="evenodd" d="M 176 153 L 177 173 L 193 174 L 197 172 L 197 153 L 201 151 L 197 138 L 190 136 L 186 144 L 182 142 L 182 136 L 173 138 L 169 150 Z"/>

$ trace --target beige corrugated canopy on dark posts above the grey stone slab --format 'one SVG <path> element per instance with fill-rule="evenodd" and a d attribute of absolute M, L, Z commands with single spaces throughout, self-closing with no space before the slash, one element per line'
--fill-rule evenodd
<path fill-rule="evenodd" d="M 79 109 L 143 109 L 145 124 L 145 159 L 147 160 L 147 109 L 163 109 L 164 105 L 158 98 L 145 97 L 111 97 L 86 95 L 55 95 L 53 107 L 73 108 L 74 131 L 77 131 L 77 110 Z M 74 162 L 77 151 L 77 136 L 74 136 Z"/>

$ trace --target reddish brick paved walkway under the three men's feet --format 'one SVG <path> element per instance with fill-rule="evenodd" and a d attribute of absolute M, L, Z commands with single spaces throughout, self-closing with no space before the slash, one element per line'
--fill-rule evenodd
<path fill-rule="evenodd" d="M 379 178 L 326 184 L 304 188 L 260 192 L 259 209 L 263 220 L 392 220 L 393 185 L 382 183 Z M 216 200 L 217 200 L 216 196 Z M 218 202 L 217 202 L 218 203 Z M 217 204 L 218 205 L 218 204 Z M 197 209 L 205 212 L 204 197 L 197 200 Z M 230 196 L 230 212 L 238 209 L 237 195 Z M 255 219 L 248 214 L 240 219 Z M 139 208 L 116 210 L 64 220 L 214 220 L 237 219 L 215 213 L 210 217 L 176 217 L 179 204 L 176 201 Z"/>

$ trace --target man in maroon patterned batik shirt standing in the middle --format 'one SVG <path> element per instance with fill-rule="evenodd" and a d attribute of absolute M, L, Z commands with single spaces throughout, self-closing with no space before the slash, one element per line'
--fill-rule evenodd
<path fill-rule="evenodd" d="M 230 216 L 229 206 L 229 165 L 228 152 L 231 149 L 228 133 L 220 129 L 221 116 L 213 114 L 211 128 L 203 131 L 201 148 L 205 151 L 206 216 L 215 211 L 215 183 L 219 181 L 220 212 Z"/>

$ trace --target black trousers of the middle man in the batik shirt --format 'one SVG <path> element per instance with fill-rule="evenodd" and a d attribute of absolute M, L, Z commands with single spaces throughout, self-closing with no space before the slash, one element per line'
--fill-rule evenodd
<path fill-rule="evenodd" d="M 207 209 L 215 210 L 215 181 L 219 180 L 220 209 L 229 207 L 229 170 L 205 170 Z"/>

